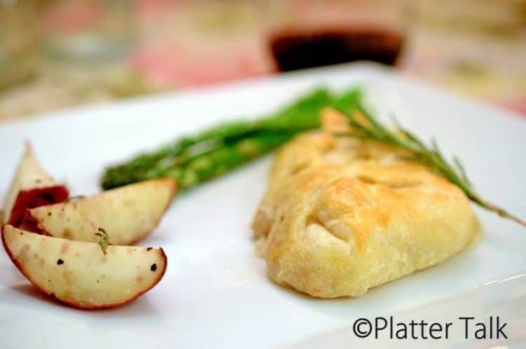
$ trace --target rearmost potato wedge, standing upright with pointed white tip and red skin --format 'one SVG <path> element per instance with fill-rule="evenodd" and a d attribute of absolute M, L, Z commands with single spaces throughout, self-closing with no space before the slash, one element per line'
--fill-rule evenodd
<path fill-rule="evenodd" d="M 65 185 L 56 183 L 42 169 L 27 143 L 6 197 L 4 222 L 19 226 L 26 209 L 63 202 L 67 197 Z"/>

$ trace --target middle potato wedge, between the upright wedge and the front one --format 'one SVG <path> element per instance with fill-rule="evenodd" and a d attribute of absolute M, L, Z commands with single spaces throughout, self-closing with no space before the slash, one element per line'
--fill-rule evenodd
<path fill-rule="evenodd" d="M 112 244 L 133 245 L 159 224 L 174 195 L 173 180 L 147 180 L 85 199 L 29 209 L 20 228 L 97 242 L 93 232 L 102 227 Z"/>

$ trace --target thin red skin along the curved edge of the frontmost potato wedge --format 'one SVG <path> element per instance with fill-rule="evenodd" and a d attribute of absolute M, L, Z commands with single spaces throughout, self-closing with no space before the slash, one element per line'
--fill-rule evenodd
<path fill-rule="evenodd" d="M 80 310 L 100 310 L 100 309 L 116 308 L 116 307 L 118 307 L 120 305 L 124 305 L 126 303 L 130 303 L 131 301 L 135 300 L 135 298 L 138 298 L 138 297 L 142 296 L 147 291 L 149 291 L 149 290 L 153 289 L 154 287 L 156 287 L 156 285 L 159 284 L 159 282 L 163 278 L 164 274 L 166 273 L 166 268 L 168 267 L 168 258 L 166 258 L 166 253 L 164 253 L 164 250 L 161 249 L 161 247 L 159 247 L 159 251 L 161 251 L 161 256 L 163 257 L 163 260 L 164 260 L 164 268 L 163 268 L 162 272 L 159 273 L 159 278 L 156 279 L 156 281 L 153 284 L 151 284 L 151 287 L 149 287 L 148 289 L 145 289 L 144 291 L 141 291 L 138 294 L 135 294 L 135 295 L 131 296 L 130 298 L 126 299 L 125 301 L 123 301 L 121 303 L 110 303 L 110 304 L 100 304 L 100 305 L 73 303 L 73 302 L 70 302 L 70 301 L 65 301 L 64 299 L 57 298 L 57 296 L 55 296 L 53 293 L 48 293 L 45 289 L 40 287 L 39 284 L 36 284 L 36 282 L 34 282 L 29 277 L 29 275 L 27 275 L 25 273 L 25 270 L 22 268 L 22 265 L 14 258 L 13 253 L 11 252 L 11 250 L 7 246 L 6 236 L 4 234 L 5 227 L 6 227 L 5 224 L 2 225 L 2 234 L 1 234 L 2 235 L 2 244 L 4 245 L 4 249 L 6 250 L 7 255 L 9 256 L 9 258 L 11 259 L 13 264 L 16 266 L 16 268 L 18 268 L 18 270 L 20 270 L 22 275 L 24 275 L 26 277 L 26 279 L 28 279 L 29 282 L 31 282 L 34 285 L 34 287 L 36 287 L 36 289 L 41 291 L 46 296 L 54 299 L 55 301 L 58 301 L 59 303 L 62 303 L 62 304 L 68 305 L 69 307 L 80 309 Z M 27 234 L 33 234 L 33 233 L 32 232 L 27 232 Z"/>

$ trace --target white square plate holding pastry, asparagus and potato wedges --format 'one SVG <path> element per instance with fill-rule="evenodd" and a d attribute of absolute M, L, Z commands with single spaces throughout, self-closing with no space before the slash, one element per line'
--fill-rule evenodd
<path fill-rule="evenodd" d="M 104 166 L 227 118 L 258 115 L 314 86 L 360 84 L 377 113 L 396 114 L 457 154 L 478 191 L 526 217 L 526 122 L 374 65 L 342 65 L 238 84 L 58 112 L 0 126 L 5 195 L 24 140 L 72 195 L 100 190 Z M 276 348 L 349 326 L 367 314 L 417 308 L 526 270 L 526 229 L 477 209 L 474 249 L 355 299 L 321 300 L 278 287 L 255 256 L 250 220 L 270 157 L 177 197 L 142 242 L 163 246 L 168 271 L 137 301 L 80 311 L 47 301 L 0 253 L 1 348 Z"/>

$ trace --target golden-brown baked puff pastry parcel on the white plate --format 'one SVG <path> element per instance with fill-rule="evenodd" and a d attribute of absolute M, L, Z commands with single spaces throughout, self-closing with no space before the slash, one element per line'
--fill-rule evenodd
<path fill-rule="evenodd" d="M 464 192 L 403 151 L 316 131 L 278 150 L 252 223 L 271 278 L 311 296 L 360 296 L 464 249 Z"/>

